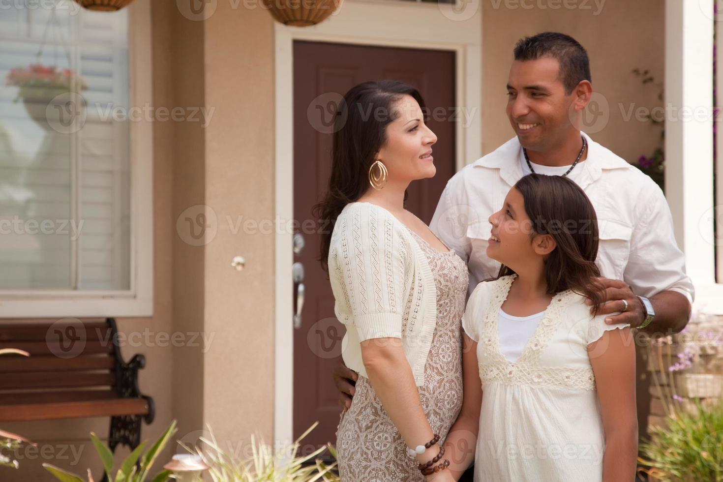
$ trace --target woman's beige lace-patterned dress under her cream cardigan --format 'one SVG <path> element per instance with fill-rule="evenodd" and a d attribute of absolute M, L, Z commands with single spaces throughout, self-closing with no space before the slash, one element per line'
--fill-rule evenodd
<path fill-rule="evenodd" d="M 437 288 L 437 324 L 432 335 L 424 386 L 417 387 L 424 413 L 440 444 L 462 407 L 462 335 L 469 275 L 455 251 L 440 252 L 411 231 L 429 262 Z M 424 481 L 416 460 L 372 389 L 359 376 L 351 408 L 341 413 L 337 437 L 339 474 L 344 482 Z"/>

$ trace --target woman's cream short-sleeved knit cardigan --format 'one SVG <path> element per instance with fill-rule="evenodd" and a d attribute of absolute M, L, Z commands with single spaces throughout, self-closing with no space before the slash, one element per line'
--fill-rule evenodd
<path fill-rule="evenodd" d="M 437 288 L 406 225 L 383 207 L 352 202 L 336 220 L 328 264 L 334 311 L 346 325 L 341 345 L 346 366 L 368 378 L 360 343 L 401 338 L 421 386 L 437 322 Z"/>

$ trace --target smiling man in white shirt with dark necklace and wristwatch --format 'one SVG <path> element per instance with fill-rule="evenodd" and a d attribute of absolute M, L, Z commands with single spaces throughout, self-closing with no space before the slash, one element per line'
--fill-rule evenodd
<path fill-rule="evenodd" d="M 599 222 L 597 264 L 609 323 L 646 332 L 680 332 L 688 323 L 693 284 L 673 236 L 661 189 L 645 174 L 581 132 L 592 93 L 585 49 L 561 33 L 540 33 L 515 46 L 507 115 L 516 137 L 448 181 L 429 227 L 469 267 L 469 292 L 497 275 L 486 254 L 489 215 L 519 178 L 531 172 L 568 176 L 586 192 Z M 586 228 L 585 220 L 572 220 Z M 356 374 L 339 366 L 340 401 L 351 405 Z"/>

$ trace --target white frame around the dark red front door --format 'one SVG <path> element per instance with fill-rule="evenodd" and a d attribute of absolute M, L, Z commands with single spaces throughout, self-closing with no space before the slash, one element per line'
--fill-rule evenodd
<path fill-rule="evenodd" d="M 441 39 L 441 40 L 437 40 Z M 275 218 L 294 219 L 293 43 L 312 40 L 369 46 L 454 51 L 455 106 L 469 114 L 455 135 L 459 170 L 482 157 L 482 8 L 411 1 L 346 0 L 313 27 L 275 22 Z M 344 92 L 338 92 L 343 95 Z M 284 223 L 286 225 L 286 223 Z M 279 230 L 275 245 L 274 439 L 290 442 L 294 416 L 293 233 Z M 331 374 L 329 374 L 331 376 Z"/>

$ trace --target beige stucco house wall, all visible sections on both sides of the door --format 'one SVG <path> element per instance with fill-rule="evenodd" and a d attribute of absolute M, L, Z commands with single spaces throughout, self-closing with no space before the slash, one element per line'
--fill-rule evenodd
<path fill-rule="evenodd" d="M 589 10 L 507 9 L 503 0 L 497 9 L 492 2 L 482 4 L 485 153 L 513 135 L 504 122 L 504 87 L 515 40 L 543 30 L 573 35 L 589 51 L 593 85 L 611 106 L 609 124 L 594 138 L 628 160 L 653 150 L 656 129 L 623 121 L 617 103 L 657 105 L 657 92 L 630 71 L 647 68 L 662 78 L 659 1 L 608 1 L 596 16 Z M 206 423 L 234 449 L 254 432 L 273 439 L 273 234 L 243 229 L 244 220 L 274 218 L 273 21 L 264 9 L 243 5 L 218 1 L 208 20 L 194 22 L 179 14 L 176 2 L 152 2 L 155 105 L 215 111 L 205 128 L 190 122 L 154 124 L 154 315 L 119 319 L 119 329 L 202 331 L 213 338 L 206 353 L 202 347 L 124 348 L 126 358 L 133 353 L 147 358 L 140 384 L 155 399 L 156 419 L 143 427 L 144 439 L 155 439 L 172 418 L 179 420 L 176 439 L 187 436 L 187 442 Z M 215 213 L 217 232 L 205 246 L 190 246 L 176 231 L 176 219 L 194 205 Z M 231 268 L 236 255 L 247 260 L 241 272 Z M 49 447 L 48 454 L 53 451 L 48 460 L 21 453 L 20 471 L 12 473 L 16 480 L 53 480 L 40 468 L 43 461 L 100 473 L 87 434 L 106 436 L 107 418 L 2 428 Z M 58 459 L 63 447 L 67 458 Z M 80 459 L 74 460 L 77 452 Z M 126 454 L 121 449 L 116 458 Z M 170 456 L 167 449 L 157 468 Z"/>

